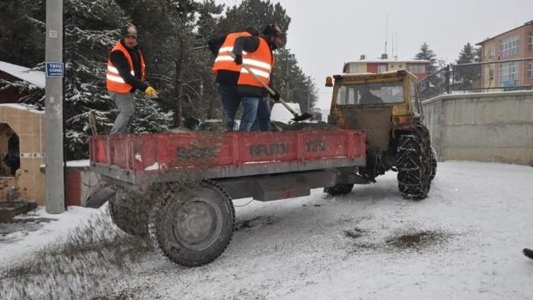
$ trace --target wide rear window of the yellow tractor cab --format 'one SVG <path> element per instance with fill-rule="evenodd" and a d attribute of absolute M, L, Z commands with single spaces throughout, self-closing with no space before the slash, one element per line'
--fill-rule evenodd
<path fill-rule="evenodd" d="M 379 105 L 404 101 L 402 81 L 342 85 L 338 105 Z"/>

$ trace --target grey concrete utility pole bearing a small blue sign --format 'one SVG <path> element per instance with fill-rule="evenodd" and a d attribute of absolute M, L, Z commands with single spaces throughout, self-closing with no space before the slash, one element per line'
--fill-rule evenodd
<path fill-rule="evenodd" d="M 46 0 L 45 59 L 63 63 L 63 0 Z M 63 76 L 49 77 L 47 70 L 45 97 L 46 212 L 57 214 L 65 211 Z"/>

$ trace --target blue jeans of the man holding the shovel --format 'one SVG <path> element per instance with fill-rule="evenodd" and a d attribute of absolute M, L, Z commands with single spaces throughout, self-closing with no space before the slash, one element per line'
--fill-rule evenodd
<path fill-rule="evenodd" d="M 252 129 L 264 132 L 270 130 L 270 105 L 266 97 L 242 97 L 242 119 L 239 131 L 251 132 Z"/>

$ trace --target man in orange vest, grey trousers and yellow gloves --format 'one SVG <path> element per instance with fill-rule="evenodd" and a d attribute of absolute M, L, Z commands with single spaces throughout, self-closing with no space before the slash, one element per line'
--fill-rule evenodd
<path fill-rule="evenodd" d="M 144 82 L 146 64 L 137 44 L 136 26 L 129 24 L 123 33 L 124 38 L 114 45 L 107 60 L 107 90 L 119 109 L 109 134 L 129 133 L 135 114 L 133 94 L 136 90 L 144 91 L 148 97 L 157 97 L 154 87 Z"/>

